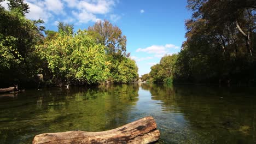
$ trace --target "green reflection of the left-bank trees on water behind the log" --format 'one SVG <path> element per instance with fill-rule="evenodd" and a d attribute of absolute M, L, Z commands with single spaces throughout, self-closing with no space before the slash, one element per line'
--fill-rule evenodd
<path fill-rule="evenodd" d="M 1 101 L 0 143 L 31 143 L 46 132 L 116 128 L 127 123 L 137 100 L 137 85 L 27 91 L 15 101 Z"/>

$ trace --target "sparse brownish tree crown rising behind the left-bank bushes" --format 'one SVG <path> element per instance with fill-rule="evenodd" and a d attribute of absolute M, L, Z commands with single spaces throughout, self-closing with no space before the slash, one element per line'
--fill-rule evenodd
<path fill-rule="evenodd" d="M 109 21 L 96 22 L 94 26 L 88 28 L 88 32 L 95 38 L 97 43 L 106 47 L 106 51 L 114 58 L 126 57 L 126 36 L 121 29 L 113 26 Z"/>

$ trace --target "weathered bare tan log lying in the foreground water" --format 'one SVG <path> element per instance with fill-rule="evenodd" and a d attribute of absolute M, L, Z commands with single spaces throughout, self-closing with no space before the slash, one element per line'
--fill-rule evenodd
<path fill-rule="evenodd" d="M 158 141 L 159 130 L 153 117 L 144 117 L 122 127 L 99 132 L 67 131 L 45 133 L 34 137 L 39 143 L 152 143 Z"/>

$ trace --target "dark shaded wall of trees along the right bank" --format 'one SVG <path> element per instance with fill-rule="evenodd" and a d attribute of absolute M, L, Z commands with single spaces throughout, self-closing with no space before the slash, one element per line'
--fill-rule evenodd
<path fill-rule="evenodd" d="M 250 0 L 189 0 L 194 13 L 185 22 L 187 40 L 177 56 L 165 56 L 152 67 L 153 81 L 171 75 L 174 82 L 255 82 L 255 5 Z M 172 68 L 163 66 L 164 59 Z"/>

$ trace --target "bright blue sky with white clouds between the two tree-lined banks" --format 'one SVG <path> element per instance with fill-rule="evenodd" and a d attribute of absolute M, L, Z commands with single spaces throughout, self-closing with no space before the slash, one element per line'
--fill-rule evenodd
<path fill-rule="evenodd" d="M 186 19 L 191 11 L 187 0 L 25 0 L 30 6 L 28 19 L 43 19 L 46 29 L 57 31 L 57 22 L 87 29 L 98 20 L 107 19 L 127 37 L 127 52 L 139 68 L 139 75 L 149 73 L 164 55 L 181 50 L 185 40 Z M 6 2 L 2 5 L 7 7 Z"/>

